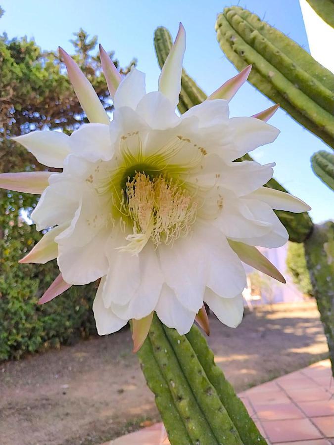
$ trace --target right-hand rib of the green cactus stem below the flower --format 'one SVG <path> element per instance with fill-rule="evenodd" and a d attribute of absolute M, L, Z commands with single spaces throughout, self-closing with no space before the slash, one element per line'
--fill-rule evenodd
<path fill-rule="evenodd" d="M 223 371 L 215 364 L 213 353 L 199 329 L 196 326 L 192 326 L 186 337 L 198 357 L 203 371 L 215 388 L 230 419 L 237 428 L 242 443 L 265 445 L 266 441 L 260 435 L 242 401 L 236 395 L 232 385 L 226 380 Z"/>

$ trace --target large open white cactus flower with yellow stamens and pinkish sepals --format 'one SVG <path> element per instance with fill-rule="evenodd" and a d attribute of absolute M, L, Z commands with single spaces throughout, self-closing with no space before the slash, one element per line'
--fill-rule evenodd
<path fill-rule="evenodd" d="M 304 202 L 263 185 L 275 164 L 233 162 L 279 131 L 270 115 L 229 118 L 228 101 L 250 69 L 181 117 L 176 105 L 185 51 L 182 25 L 159 78 L 121 79 L 101 48 L 114 112 L 110 122 L 93 87 L 61 50 L 90 124 L 71 136 L 32 132 L 15 138 L 62 173 L 0 175 L 5 188 L 42 193 L 31 218 L 49 230 L 22 263 L 57 259 L 60 275 L 45 303 L 71 285 L 101 278 L 93 310 L 99 334 L 141 320 L 140 347 L 155 311 L 187 333 L 206 302 L 228 326 L 242 318 L 241 260 L 284 281 L 254 246 L 278 247 L 288 234 L 273 209 L 304 212 Z M 136 322 L 135 322 L 136 323 Z M 205 322 L 204 322 L 205 324 Z M 135 328 L 136 329 L 136 328 Z M 136 342 L 136 339 L 135 339 Z"/>

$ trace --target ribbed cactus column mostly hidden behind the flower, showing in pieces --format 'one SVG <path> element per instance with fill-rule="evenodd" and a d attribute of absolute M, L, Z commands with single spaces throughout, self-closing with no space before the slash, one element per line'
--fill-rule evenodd
<path fill-rule="evenodd" d="M 169 31 L 164 27 L 159 27 L 154 33 L 155 51 L 160 67 L 163 66 L 170 48 L 172 47 L 172 37 Z M 181 113 L 185 113 L 189 108 L 206 99 L 205 93 L 196 85 L 188 74 L 183 70 L 182 72 L 182 89 L 180 93 L 180 101 L 178 108 Z M 252 160 L 246 154 L 241 160 Z M 266 184 L 268 187 L 275 188 L 286 192 L 287 190 L 279 184 L 275 179 L 270 179 Z M 291 212 L 276 211 L 277 216 L 285 225 L 291 241 L 303 242 L 312 230 L 312 221 L 307 213 L 292 214 Z"/>

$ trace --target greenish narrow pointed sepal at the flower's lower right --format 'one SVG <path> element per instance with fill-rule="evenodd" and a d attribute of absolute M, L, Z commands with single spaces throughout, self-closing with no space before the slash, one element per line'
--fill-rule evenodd
<path fill-rule="evenodd" d="M 231 239 L 228 239 L 228 242 L 243 263 L 260 270 L 260 272 L 275 278 L 281 283 L 286 283 L 282 273 L 256 247 L 240 243 L 239 241 L 232 241 Z"/>

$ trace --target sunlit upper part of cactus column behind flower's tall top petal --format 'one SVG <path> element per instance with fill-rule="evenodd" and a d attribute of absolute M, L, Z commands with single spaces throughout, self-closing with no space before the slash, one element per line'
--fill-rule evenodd
<path fill-rule="evenodd" d="M 163 26 L 157 28 L 154 33 L 154 47 L 160 68 L 163 67 L 172 45 L 172 36 L 169 31 Z M 185 70 L 182 70 L 181 85 L 178 104 L 181 113 L 185 113 L 189 108 L 202 103 L 206 99 L 206 94 L 197 87 Z"/>

